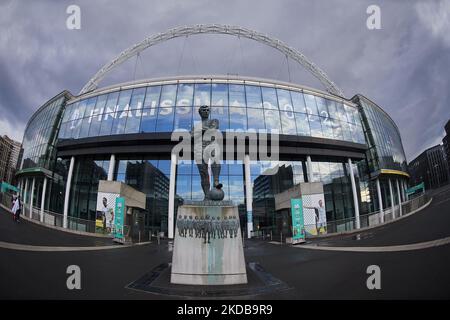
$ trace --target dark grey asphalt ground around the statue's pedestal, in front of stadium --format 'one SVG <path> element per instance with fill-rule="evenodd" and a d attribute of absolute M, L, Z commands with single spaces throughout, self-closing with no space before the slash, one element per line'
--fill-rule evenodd
<path fill-rule="evenodd" d="M 450 236 L 450 191 L 435 196 L 420 213 L 362 235 L 362 240 L 322 240 L 321 246 L 385 246 Z M 5 219 L 6 217 L 6 219 Z M 0 241 L 53 246 L 110 244 L 24 222 L 15 225 L 0 212 Z M 401 252 L 311 250 L 251 240 L 247 262 L 258 262 L 288 289 L 246 299 L 449 299 L 450 245 Z M 1 299 L 178 299 L 130 290 L 126 286 L 161 263 L 171 261 L 171 245 L 151 243 L 128 248 L 31 252 L 0 249 Z M 81 290 L 68 290 L 66 268 L 81 268 Z M 369 290 L 369 265 L 381 270 L 381 289 Z M 210 297 L 214 298 L 214 297 Z M 242 299 L 243 297 L 234 297 Z M 232 297 L 233 299 L 233 297 Z"/>

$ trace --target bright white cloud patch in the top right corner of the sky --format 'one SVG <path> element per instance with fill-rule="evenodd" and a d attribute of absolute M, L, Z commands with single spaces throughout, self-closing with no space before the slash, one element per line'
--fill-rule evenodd
<path fill-rule="evenodd" d="M 419 2 L 415 6 L 422 24 L 450 47 L 450 1 Z"/>

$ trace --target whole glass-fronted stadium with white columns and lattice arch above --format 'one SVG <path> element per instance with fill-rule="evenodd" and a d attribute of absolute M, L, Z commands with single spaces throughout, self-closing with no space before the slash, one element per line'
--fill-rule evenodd
<path fill-rule="evenodd" d="M 286 54 L 323 89 L 271 79 L 195 75 L 144 79 L 99 87 L 121 63 L 158 43 L 195 34 L 239 36 Z M 210 107 L 220 130 L 277 135 L 278 159 L 224 159 L 225 200 L 239 208 L 253 235 L 289 234 L 275 196 L 302 182 L 323 184 L 328 233 L 392 219 L 406 201 L 409 175 L 395 122 L 362 94 L 346 98 L 325 72 L 278 39 L 241 27 L 196 25 L 151 36 L 105 64 L 79 94 L 63 91 L 29 119 L 16 174 L 24 215 L 43 223 L 95 233 L 99 181 L 120 181 L 145 194 L 128 224 L 144 233 L 174 234 L 177 208 L 202 200 L 193 161 L 172 153 L 172 134 L 201 121 Z M 247 145 L 249 141 L 245 142 Z M 399 206 L 401 210 L 401 206 Z"/>

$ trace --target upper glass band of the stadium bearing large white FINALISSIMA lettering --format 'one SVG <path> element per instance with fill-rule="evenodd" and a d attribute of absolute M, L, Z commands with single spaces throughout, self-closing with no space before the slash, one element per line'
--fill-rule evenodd
<path fill-rule="evenodd" d="M 211 106 L 222 131 L 264 130 L 365 143 L 357 108 L 301 91 L 234 83 L 182 83 L 127 89 L 66 107 L 60 139 L 191 130 Z"/>

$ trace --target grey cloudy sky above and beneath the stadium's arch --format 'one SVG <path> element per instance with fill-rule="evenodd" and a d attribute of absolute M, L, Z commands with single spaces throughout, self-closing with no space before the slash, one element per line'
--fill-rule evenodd
<path fill-rule="evenodd" d="M 147 36 L 181 25 L 240 25 L 297 48 L 343 89 L 382 106 L 408 161 L 440 143 L 450 119 L 448 1 L 25 1 L 0 0 L 0 134 L 22 140 L 33 112 L 64 89 L 77 94 L 106 62 Z M 66 27 L 69 5 L 81 29 Z M 381 30 L 366 27 L 369 5 Z M 144 51 L 100 86 L 186 74 L 239 74 L 323 89 L 302 67 L 257 42 L 178 38 Z"/>

